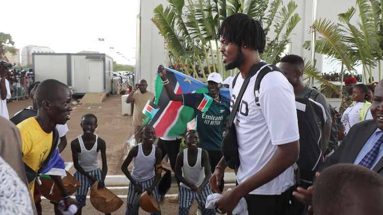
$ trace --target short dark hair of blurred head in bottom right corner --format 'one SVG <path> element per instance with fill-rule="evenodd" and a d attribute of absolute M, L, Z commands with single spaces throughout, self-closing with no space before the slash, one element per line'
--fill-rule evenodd
<path fill-rule="evenodd" d="M 323 170 L 314 187 L 314 214 L 341 215 L 350 205 L 360 204 L 351 193 L 355 188 L 383 188 L 383 177 L 366 167 L 342 163 Z"/>

